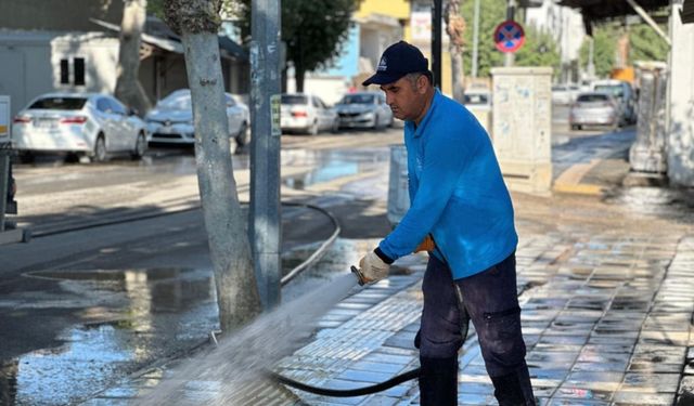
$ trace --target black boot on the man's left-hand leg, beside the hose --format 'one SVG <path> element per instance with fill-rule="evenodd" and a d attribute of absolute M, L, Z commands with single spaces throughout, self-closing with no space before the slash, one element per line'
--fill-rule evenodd
<path fill-rule="evenodd" d="M 458 405 L 458 357 L 420 357 L 420 404 L 422 406 Z"/>

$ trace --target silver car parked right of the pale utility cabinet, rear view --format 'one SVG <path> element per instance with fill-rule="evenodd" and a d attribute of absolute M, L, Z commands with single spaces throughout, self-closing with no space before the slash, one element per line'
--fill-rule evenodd
<path fill-rule="evenodd" d="M 571 130 L 580 130 L 583 126 L 616 128 L 619 121 L 618 103 L 608 93 L 580 93 L 569 109 L 568 122 Z"/>

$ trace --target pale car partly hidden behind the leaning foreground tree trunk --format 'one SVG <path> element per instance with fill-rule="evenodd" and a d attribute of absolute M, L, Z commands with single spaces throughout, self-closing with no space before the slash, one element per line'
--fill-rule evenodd
<path fill-rule="evenodd" d="M 248 107 L 224 93 L 229 136 L 234 142 L 232 150 L 250 141 L 250 116 Z M 193 145 L 193 103 L 190 89 L 180 89 L 162 99 L 144 118 L 152 143 Z"/>

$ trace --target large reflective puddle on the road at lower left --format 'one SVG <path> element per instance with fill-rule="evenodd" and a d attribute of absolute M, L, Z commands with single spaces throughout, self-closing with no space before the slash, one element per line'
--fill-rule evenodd
<path fill-rule="evenodd" d="M 0 326 L 13 326 L 1 332 L 3 353 L 22 354 L 0 359 L 0 405 L 75 403 L 190 349 L 217 328 L 209 270 L 57 270 L 26 276 L 55 280 L 60 289 L 46 298 L 12 293 L 0 303 Z"/>

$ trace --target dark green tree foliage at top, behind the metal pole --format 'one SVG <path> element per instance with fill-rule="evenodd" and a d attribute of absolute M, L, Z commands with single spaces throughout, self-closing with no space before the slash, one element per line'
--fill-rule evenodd
<path fill-rule="evenodd" d="M 240 5 L 242 36 L 247 42 L 250 0 L 241 0 Z M 340 55 L 357 5 L 357 0 L 282 0 L 282 40 L 297 81 L 303 83 L 306 71 L 330 67 Z"/>

